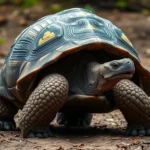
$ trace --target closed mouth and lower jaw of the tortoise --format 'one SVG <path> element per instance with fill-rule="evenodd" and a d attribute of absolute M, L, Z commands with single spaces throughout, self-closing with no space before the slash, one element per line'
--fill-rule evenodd
<path fill-rule="evenodd" d="M 134 74 L 134 70 L 128 70 L 128 71 L 125 71 L 125 72 L 121 72 L 119 74 L 116 74 L 116 75 L 113 75 L 111 77 L 111 79 L 130 79 L 132 78 L 133 74 Z"/>

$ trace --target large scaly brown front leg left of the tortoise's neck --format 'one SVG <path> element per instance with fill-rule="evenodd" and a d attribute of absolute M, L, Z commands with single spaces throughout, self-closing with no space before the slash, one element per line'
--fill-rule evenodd
<path fill-rule="evenodd" d="M 59 74 L 43 78 L 32 92 L 19 118 L 23 137 L 51 136 L 49 123 L 63 106 L 68 95 L 68 82 Z"/>

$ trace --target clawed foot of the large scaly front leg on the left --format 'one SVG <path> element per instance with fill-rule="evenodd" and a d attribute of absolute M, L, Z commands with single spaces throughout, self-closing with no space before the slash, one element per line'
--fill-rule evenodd
<path fill-rule="evenodd" d="M 35 128 L 28 131 L 25 138 L 48 138 L 51 137 L 52 133 L 49 128 Z"/>

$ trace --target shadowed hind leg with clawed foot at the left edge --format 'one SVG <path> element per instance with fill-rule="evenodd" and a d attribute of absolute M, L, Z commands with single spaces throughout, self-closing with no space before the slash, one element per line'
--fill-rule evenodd
<path fill-rule="evenodd" d="M 16 125 L 13 120 L 17 108 L 7 99 L 0 97 L 0 130 L 14 130 Z"/>

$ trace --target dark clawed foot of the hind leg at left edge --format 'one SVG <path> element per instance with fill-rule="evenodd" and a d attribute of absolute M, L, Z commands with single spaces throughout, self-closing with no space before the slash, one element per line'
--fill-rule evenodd
<path fill-rule="evenodd" d="M 15 130 L 16 124 L 11 119 L 0 119 L 0 131 L 12 131 Z"/>

